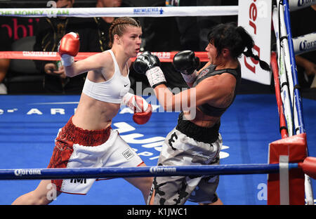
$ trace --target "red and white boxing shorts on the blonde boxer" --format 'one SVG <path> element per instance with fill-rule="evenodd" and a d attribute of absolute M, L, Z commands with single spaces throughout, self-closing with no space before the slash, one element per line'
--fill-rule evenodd
<path fill-rule="evenodd" d="M 88 131 L 72 124 L 72 118 L 60 128 L 48 168 L 133 167 L 143 160 L 108 127 Z M 97 179 L 51 180 L 60 192 L 86 194 Z"/>

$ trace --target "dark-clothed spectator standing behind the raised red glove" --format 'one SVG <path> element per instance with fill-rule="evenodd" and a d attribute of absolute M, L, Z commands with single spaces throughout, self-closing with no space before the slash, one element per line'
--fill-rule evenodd
<path fill-rule="evenodd" d="M 72 8 L 74 0 L 58 0 L 58 8 Z M 80 51 L 90 52 L 88 33 L 91 28 L 91 20 L 86 18 L 41 18 L 37 32 L 34 51 L 57 51 L 58 43 L 62 36 L 68 32 L 77 32 L 80 37 Z M 91 51 L 92 52 L 92 51 Z M 37 68 L 44 73 L 44 89 L 48 93 L 79 94 L 84 86 L 86 74 L 78 77 L 66 77 L 64 67 L 60 62 L 35 61 Z"/>

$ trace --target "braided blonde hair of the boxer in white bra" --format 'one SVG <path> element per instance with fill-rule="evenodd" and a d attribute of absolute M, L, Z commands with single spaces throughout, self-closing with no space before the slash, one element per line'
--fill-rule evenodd
<path fill-rule="evenodd" d="M 114 35 L 117 34 L 118 36 L 122 36 L 126 30 L 126 26 L 131 25 L 133 27 L 140 27 L 140 22 L 138 20 L 135 20 L 133 18 L 129 17 L 121 17 L 117 18 L 112 22 L 112 25 L 109 29 L 109 47 L 112 48 L 113 41 L 114 41 Z"/>

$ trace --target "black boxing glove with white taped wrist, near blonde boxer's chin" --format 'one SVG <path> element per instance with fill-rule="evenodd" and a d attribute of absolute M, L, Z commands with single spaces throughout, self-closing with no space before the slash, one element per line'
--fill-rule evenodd
<path fill-rule="evenodd" d="M 152 88 L 155 88 L 159 84 L 166 84 L 164 72 L 160 69 L 159 58 L 148 51 L 138 55 L 133 63 L 133 68 L 139 74 L 146 75 Z"/>

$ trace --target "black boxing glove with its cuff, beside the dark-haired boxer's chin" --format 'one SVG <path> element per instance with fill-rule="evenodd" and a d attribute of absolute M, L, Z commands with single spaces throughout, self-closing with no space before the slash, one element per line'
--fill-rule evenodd
<path fill-rule="evenodd" d="M 199 63 L 199 58 L 193 51 L 180 51 L 173 57 L 173 67 L 182 74 L 189 86 L 192 86 L 197 77 Z"/>

